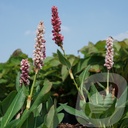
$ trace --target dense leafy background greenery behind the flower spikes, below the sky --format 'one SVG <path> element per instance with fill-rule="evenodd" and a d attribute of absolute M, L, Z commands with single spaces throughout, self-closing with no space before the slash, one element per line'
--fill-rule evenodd
<path fill-rule="evenodd" d="M 115 41 L 114 51 L 114 66 L 111 72 L 120 74 L 126 79 L 126 81 L 128 81 L 128 40 L 126 39 L 120 42 Z M 106 68 L 104 67 L 104 40 L 99 41 L 96 44 L 89 42 L 88 46 L 84 46 L 82 49 L 79 50 L 79 52 L 81 52 L 84 55 L 84 57 L 66 55 L 67 60 L 71 64 L 74 78 L 76 79 L 76 82 L 78 84 L 80 83 L 82 72 L 88 67 L 88 65 L 91 65 L 91 68 L 87 73 L 87 77 L 96 73 L 106 72 Z M 52 84 L 52 87 L 49 92 L 49 95 L 52 98 L 52 100 L 56 100 L 57 104 L 68 103 L 69 106 L 75 108 L 77 89 L 74 86 L 73 80 L 70 78 L 66 65 L 64 65 L 63 62 L 61 63 L 62 60 L 59 59 L 60 55 L 58 54 L 54 53 L 53 56 L 47 57 L 45 59 L 44 66 L 37 76 L 37 83 L 39 84 L 39 87 L 41 89 L 44 85 L 44 81 L 46 81 L 47 79 Z M 22 53 L 20 49 L 18 49 L 14 51 L 14 53 L 12 53 L 7 62 L 0 63 L 1 117 L 6 113 L 9 105 L 11 104 L 11 101 L 17 93 L 17 87 L 15 85 L 18 84 L 19 80 L 18 78 L 20 74 L 20 62 L 22 59 L 25 58 L 28 58 L 28 56 L 25 53 Z M 30 62 L 30 65 L 33 65 L 32 58 L 28 58 L 28 60 Z M 31 76 L 30 83 L 32 83 L 34 77 L 33 67 L 30 68 L 29 73 Z M 38 90 L 39 87 L 35 87 L 35 90 Z M 10 93 L 12 93 L 12 98 L 9 96 Z M 10 97 L 10 102 L 8 102 L 7 97 Z M 124 122 L 126 122 L 127 113 L 128 112 L 126 107 L 125 113 L 123 115 L 123 118 L 125 117 Z"/>

